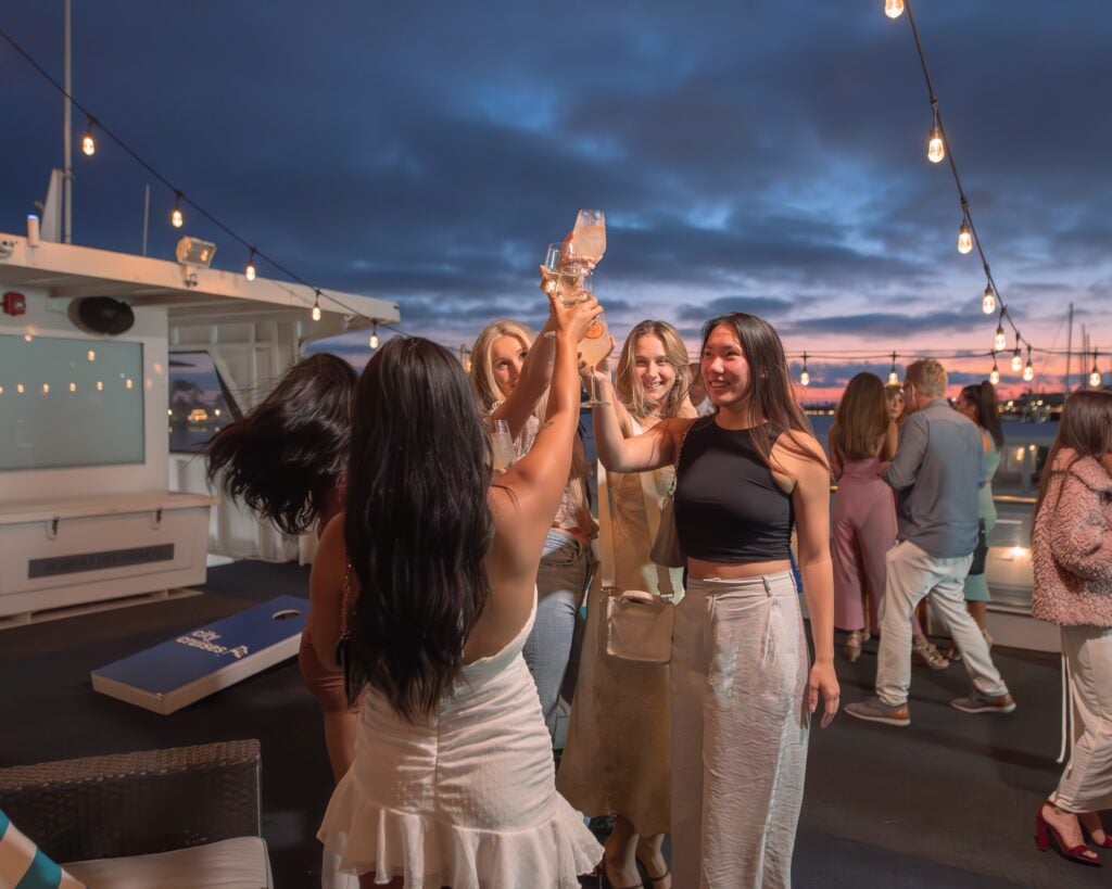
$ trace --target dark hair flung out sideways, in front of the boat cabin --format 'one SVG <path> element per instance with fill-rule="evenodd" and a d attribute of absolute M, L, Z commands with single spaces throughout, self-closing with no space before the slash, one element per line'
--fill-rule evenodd
<path fill-rule="evenodd" d="M 298 361 L 262 403 L 214 436 L 209 482 L 286 533 L 305 533 L 347 468 L 356 379 L 334 354 Z"/>

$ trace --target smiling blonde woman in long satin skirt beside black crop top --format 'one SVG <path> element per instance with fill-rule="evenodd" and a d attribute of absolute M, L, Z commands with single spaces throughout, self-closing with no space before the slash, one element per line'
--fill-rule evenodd
<path fill-rule="evenodd" d="M 622 436 L 639 436 L 662 420 L 695 417 L 687 400 L 689 387 L 687 348 L 679 333 L 665 321 L 642 321 L 629 332 L 618 360 L 615 407 Z M 683 595 L 683 571 L 658 568 L 648 555 L 655 515 L 674 476 L 671 466 L 607 476 L 619 590 Z M 668 889 L 671 875 L 661 851 L 672 820 L 668 667 L 631 663 L 606 653 L 606 595 L 602 583 L 592 585 L 579 685 L 557 787 L 586 815 L 616 815 L 604 858 L 612 886 L 639 886 L 639 859 L 653 889 Z"/>

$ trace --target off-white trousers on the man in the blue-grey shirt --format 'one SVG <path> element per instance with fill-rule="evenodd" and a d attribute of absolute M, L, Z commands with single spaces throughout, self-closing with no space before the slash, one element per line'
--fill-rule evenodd
<path fill-rule="evenodd" d="M 876 697 L 890 706 L 907 702 L 911 688 L 911 616 L 926 596 L 939 613 L 974 687 L 982 695 L 1006 695 L 976 622 L 965 608 L 965 576 L 973 553 L 942 559 L 901 540 L 885 557 L 881 601 L 881 650 L 876 660 Z"/>

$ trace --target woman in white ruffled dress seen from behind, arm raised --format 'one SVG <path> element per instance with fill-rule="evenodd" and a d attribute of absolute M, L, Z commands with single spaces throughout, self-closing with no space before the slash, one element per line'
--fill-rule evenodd
<path fill-rule="evenodd" d="M 356 396 L 346 511 L 320 539 L 312 608 L 354 608 L 312 642 L 366 688 L 355 762 L 318 836 L 360 886 L 577 889 L 600 847 L 556 792 L 522 647 L 537 562 L 572 462 L 576 343 L 600 312 L 553 306 L 545 423 L 496 480 L 467 378 L 444 348 L 396 338 Z"/>

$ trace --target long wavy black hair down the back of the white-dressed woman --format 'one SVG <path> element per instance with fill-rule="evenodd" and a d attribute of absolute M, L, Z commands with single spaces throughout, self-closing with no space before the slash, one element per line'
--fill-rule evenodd
<path fill-rule="evenodd" d="M 405 718 L 450 695 L 487 597 L 490 444 L 451 353 L 383 346 L 359 378 L 344 537 L 359 581 L 345 669 Z"/>

